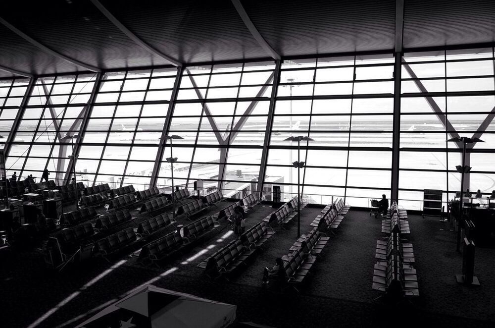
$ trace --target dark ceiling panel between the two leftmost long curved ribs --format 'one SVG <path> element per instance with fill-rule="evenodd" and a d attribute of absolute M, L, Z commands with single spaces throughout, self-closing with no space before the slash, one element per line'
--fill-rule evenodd
<path fill-rule="evenodd" d="M 102 69 L 166 64 L 125 36 L 88 0 L 8 1 L 1 16 L 45 46 Z"/>

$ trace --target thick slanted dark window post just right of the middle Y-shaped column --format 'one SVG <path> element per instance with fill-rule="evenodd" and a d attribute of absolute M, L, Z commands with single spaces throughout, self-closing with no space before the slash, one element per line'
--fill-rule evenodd
<path fill-rule="evenodd" d="M 262 196 L 263 196 L 263 184 L 265 182 L 266 163 L 268 160 L 268 146 L 270 145 L 270 137 L 271 137 L 272 127 L 273 127 L 273 113 L 275 111 L 275 100 L 277 98 L 277 89 L 278 89 L 278 84 L 280 82 L 280 67 L 281 66 L 282 66 L 282 61 L 277 60 L 275 62 L 275 72 L 273 74 L 272 94 L 270 96 L 270 107 L 268 108 L 268 117 L 266 120 L 266 129 L 265 129 L 265 131 L 266 131 L 265 132 L 265 139 L 263 141 L 263 151 L 261 153 L 261 163 L 259 165 L 258 187 L 256 190 L 256 193 L 258 194 L 259 199 L 262 199 Z"/>

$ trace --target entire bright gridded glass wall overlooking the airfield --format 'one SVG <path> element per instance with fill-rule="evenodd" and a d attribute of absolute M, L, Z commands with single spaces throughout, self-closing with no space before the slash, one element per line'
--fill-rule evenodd
<path fill-rule="evenodd" d="M 472 166 L 465 186 L 486 196 L 495 189 L 494 50 L 406 53 L 401 74 L 399 200 L 422 209 L 423 189 L 442 189 L 444 205 L 460 189 L 461 144 Z M 166 158 L 178 158 L 174 184 L 243 197 L 259 182 L 263 142 L 269 133 L 263 193 L 272 199 L 297 194 L 297 169 L 304 197 L 325 204 L 332 196 L 352 206 L 390 197 L 394 111 L 394 58 L 390 55 L 285 60 L 281 66 L 273 125 L 267 126 L 275 62 L 187 67 L 177 99 L 171 99 L 177 68 L 106 72 L 87 106 L 96 74 L 39 77 L 27 102 L 9 156 L 7 174 L 17 171 L 63 183 L 79 134 L 78 180 L 149 187 L 159 138 L 167 141 L 159 159 L 157 185 L 171 185 Z M 7 137 L 26 93 L 27 79 L 0 81 L 0 135 Z M 173 102 L 173 106 L 170 106 Z M 169 107 L 170 106 L 170 107 Z M 168 110 L 173 109 L 173 112 Z M 87 121 L 85 120 L 87 118 Z M 167 121 L 168 120 L 168 121 Z M 285 141 L 309 136 L 310 142 Z M 4 139 L 5 140 L 5 139 Z"/>

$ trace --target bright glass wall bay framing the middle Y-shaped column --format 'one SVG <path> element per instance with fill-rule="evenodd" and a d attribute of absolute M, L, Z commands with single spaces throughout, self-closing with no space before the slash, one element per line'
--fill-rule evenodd
<path fill-rule="evenodd" d="M 203 180 L 227 197 L 256 190 L 274 68 L 267 61 L 184 70 L 168 131 L 183 139 L 173 140 L 172 149 L 167 142 L 158 186 L 171 185 L 172 150 L 174 185 Z"/>

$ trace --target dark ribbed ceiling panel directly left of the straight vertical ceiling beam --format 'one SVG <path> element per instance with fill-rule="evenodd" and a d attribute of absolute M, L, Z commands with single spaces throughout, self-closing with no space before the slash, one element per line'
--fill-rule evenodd
<path fill-rule="evenodd" d="M 395 0 L 242 1 L 284 56 L 394 49 Z"/>

